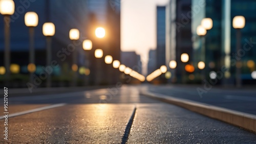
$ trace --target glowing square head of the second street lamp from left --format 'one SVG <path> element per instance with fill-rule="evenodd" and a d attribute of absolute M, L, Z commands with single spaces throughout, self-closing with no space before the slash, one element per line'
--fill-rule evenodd
<path fill-rule="evenodd" d="M 25 14 L 25 25 L 27 27 L 36 27 L 38 25 L 38 15 L 35 12 Z"/>

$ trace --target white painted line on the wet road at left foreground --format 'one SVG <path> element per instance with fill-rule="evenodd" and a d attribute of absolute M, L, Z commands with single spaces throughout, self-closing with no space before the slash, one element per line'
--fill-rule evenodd
<path fill-rule="evenodd" d="M 22 112 L 16 112 L 16 113 L 8 114 L 8 117 L 14 117 L 14 116 L 19 116 L 19 115 L 28 114 L 28 113 L 32 113 L 32 112 L 37 112 L 37 111 L 41 111 L 41 110 L 61 107 L 61 106 L 64 106 L 64 105 L 66 105 L 66 104 L 61 103 L 61 104 L 55 104 L 55 105 L 35 108 L 35 109 L 31 109 L 31 110 L 26 110 L 26 111 L 22 111 Z M 0 119 L 4 119 L 4 118 L 5 118 L 4 115 L 0 116 Z"/>

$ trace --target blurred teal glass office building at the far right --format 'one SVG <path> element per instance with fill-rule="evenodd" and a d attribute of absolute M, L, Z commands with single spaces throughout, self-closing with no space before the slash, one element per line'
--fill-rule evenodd
<path fill-rule="evenodd" d="M 238 0 L 204 2 L 192 1 L 194 62 L 201 61 L 201 49 L 204 46 L 206 78 L 209 78 L 210 71 L 221 71 L 222 66 L 225 66 L 228 69 L 223 72 L 223 78 L 219 79 L 218 83 L 233 85 L 236 83 L 236 66 L 239 66 L 242 83 L 253 83 L 251 73 L 255 70 L 256 51 L 252 47 L 256 41 L 256 20 L 252 13 L 256 12 L 256 2 Z M 244 16 L 246 21 L 245 27 L 241 29 L 241 51 L 236 50 L 237 31 L 232 27 L 232 19 L 237 15 Z M 196 33 L 203 18 L 211 18 L 213 21 L 213 27 L 207 30 L 204 39 Z M 236 59 L 241 59 L 241 63 L 236 64 Z"/>

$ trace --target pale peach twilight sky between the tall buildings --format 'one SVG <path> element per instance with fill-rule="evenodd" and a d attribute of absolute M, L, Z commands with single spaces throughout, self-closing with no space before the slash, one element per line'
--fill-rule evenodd
<path fill-rule="evenodd" d="M 146 74 L 148 51 L 156 49 L 156 6 L 168 0 L 121 0 L 121 50 L 141 55 Z"/>

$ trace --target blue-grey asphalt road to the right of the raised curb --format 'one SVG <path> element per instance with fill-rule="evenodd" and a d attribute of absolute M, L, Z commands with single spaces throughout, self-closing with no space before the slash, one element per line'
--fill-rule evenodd
<path fill-rule="evenodd" d="M 201 88 L 201 97 L 198 92 Z M 147 85 L 145 89 L 172 97 L 188 99 L 236 111 L 256 115 L 256 88 L 221 88 L 212 86 L 205 90 L 204 86 Z M 202 92 L 202 89 L 205 90 Z"/>

